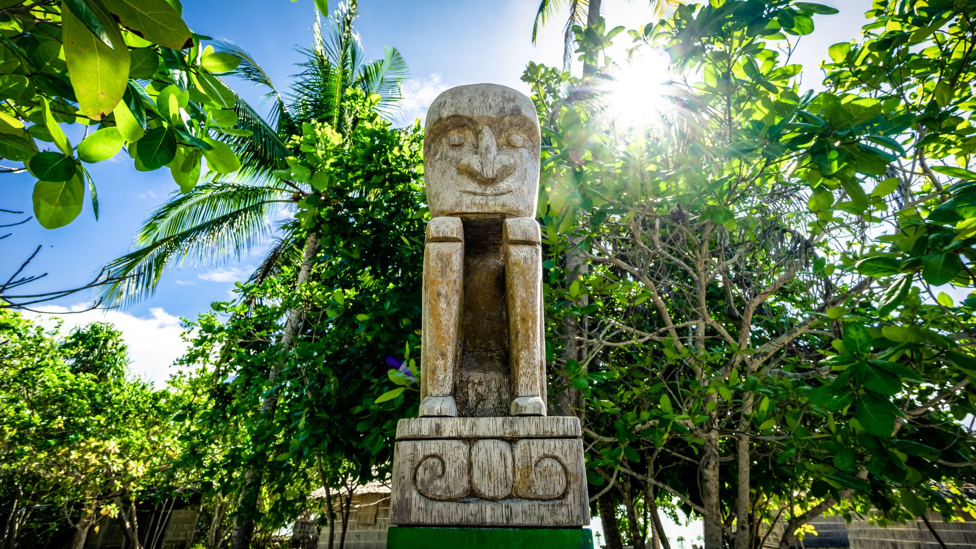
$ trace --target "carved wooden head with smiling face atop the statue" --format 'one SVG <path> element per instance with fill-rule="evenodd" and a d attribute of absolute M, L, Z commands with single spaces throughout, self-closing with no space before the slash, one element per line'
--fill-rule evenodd
<path fill-rule="evenodd" d="M 524 95 L 498 84 L 447 90 L 427 110 L 430 215 L 535 217 L 539 152 L 539 119 Z"/>

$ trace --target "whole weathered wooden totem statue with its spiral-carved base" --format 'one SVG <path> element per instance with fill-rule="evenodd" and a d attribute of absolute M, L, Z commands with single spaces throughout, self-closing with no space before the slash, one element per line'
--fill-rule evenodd
<path fill-rule="evenodd" d="M 397 426 L 393 525 L 590 523 L 579 420 L 546 416 L 539 153 L 535 107 L 505 86 L 427 111 L 421 417 Z"/>

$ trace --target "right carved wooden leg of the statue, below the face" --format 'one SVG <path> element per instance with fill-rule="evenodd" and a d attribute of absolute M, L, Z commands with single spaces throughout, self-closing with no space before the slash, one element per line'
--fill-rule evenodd
<path fill-rule="evenodd" d="M 511 415 L 546 415 L 546 371 L 542 346 L 542 234 L 531 218 L 505 220 L 505 284 L 508 353 L 513 399 Z"/>

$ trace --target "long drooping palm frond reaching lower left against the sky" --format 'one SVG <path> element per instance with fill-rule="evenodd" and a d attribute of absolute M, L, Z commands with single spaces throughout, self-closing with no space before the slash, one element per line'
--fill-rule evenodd
<path fill-rule="evenodd" d="M 268 219 L 282 190 L 210 182 L 178 194 L 153 212 L 137 236 L 139 247 L 109 262 L 107 273 L 120 281 L 102 287 L 111 303 L 134 303 L 155 291 L 164 269 L 187 257 L 212 263 L 240 257 L 270 232 Z"/>

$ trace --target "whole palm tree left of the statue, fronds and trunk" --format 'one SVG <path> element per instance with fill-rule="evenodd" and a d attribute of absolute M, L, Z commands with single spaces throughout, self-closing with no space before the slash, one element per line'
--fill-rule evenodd
<path fill-rule="evenodd" d="M 327 122 L 349 139 L 357 113 L 344 98 L 347 90 L 361 90 L 379 95 L 376 107 L 389 113 L 400 99 L 400 81 L 407 66 L 395 48 L 386 47 L 383 59 L 370 61 L 364 56 L 358 36 L 353 32 L 356 2 L 352 0 L 330 18 L 326 36 L 316 14 L 313 45 L 302 49 L 305 62 L 295 75 L 295 82 L 284 95 L 254 58 L 239 46 L 218 41 L 217 50 L 241 59 L 233 71 L 267 92 L 270 114 L 263 117 L 245 101 L 237 98 L 237 128 L 251 135 L 237 138 L 232 144 L 241 161 L 235 181 L 212 179 L 185 194 L 176 194 L 146 221 L 136 237 L 136 249 L 108 263 L 107 272 L 120 281 L 106 286 L 104 298 L 111 301 L 135 301 L 151 295 L 167 266 L 182 264 L 187 257 L 200 263 L 212 263 L 264 242 L 274 232 L 271 220 L 282 204 L 296 202 L 314 192 L 307 184 L 285 181 L 273 173 L 287 167 L 285 158 L 298 155 L 297 147 L 287 143 L 290 136 L 301 134 L 302 124 Z M 308 281 L 319 243 L 315 230 L 305 234 L 298 224 L 278 223 L 280 233 L 266 254 L 262 265 L 252 275 L 260 282 L 283 266 L 300 266 L 297 285 Z M 301 306 L 289 311 L 279 343 L 290 352 L 302 324 Z M 280 372 L 267 372 L 270 383 Z M 262 401 L 262 417 L 273 417 L 277 396 L 273 392 Z M 254 467 L 246 472 L 239 494 L 239 513 L 231 532 L 231 548 L 250 545 L 255 528 L 257 499 L 262 486 L 262 471 Z"/>

